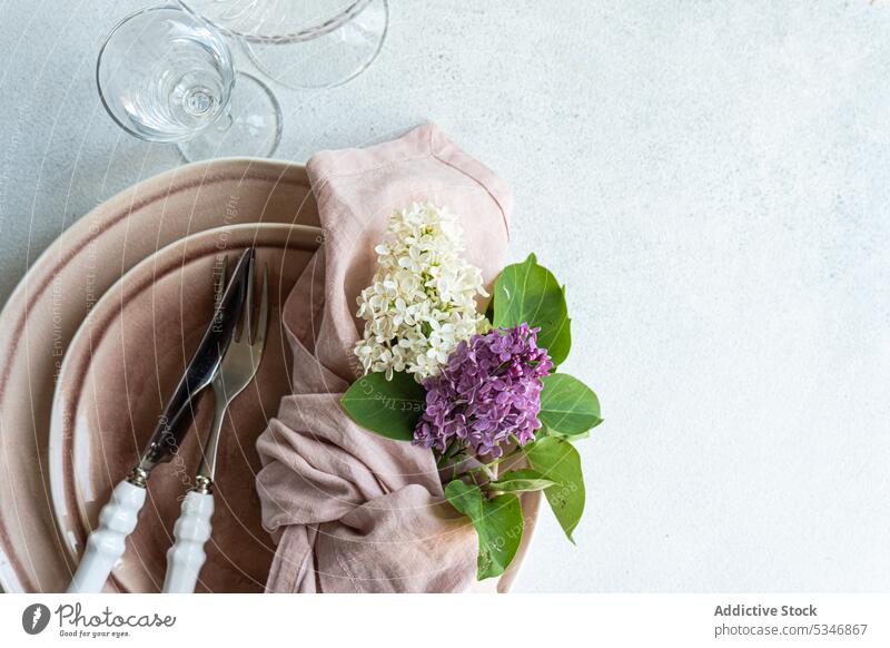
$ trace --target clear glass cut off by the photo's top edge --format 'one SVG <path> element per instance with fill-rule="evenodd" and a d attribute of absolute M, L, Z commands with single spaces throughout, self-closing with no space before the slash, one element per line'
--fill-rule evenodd
<path fill-rule="evenodd" d="M 240 40 L 269 79 L 294 89 L 330 88 L 377 58 L 388 0 L 179 0 Z"/>

